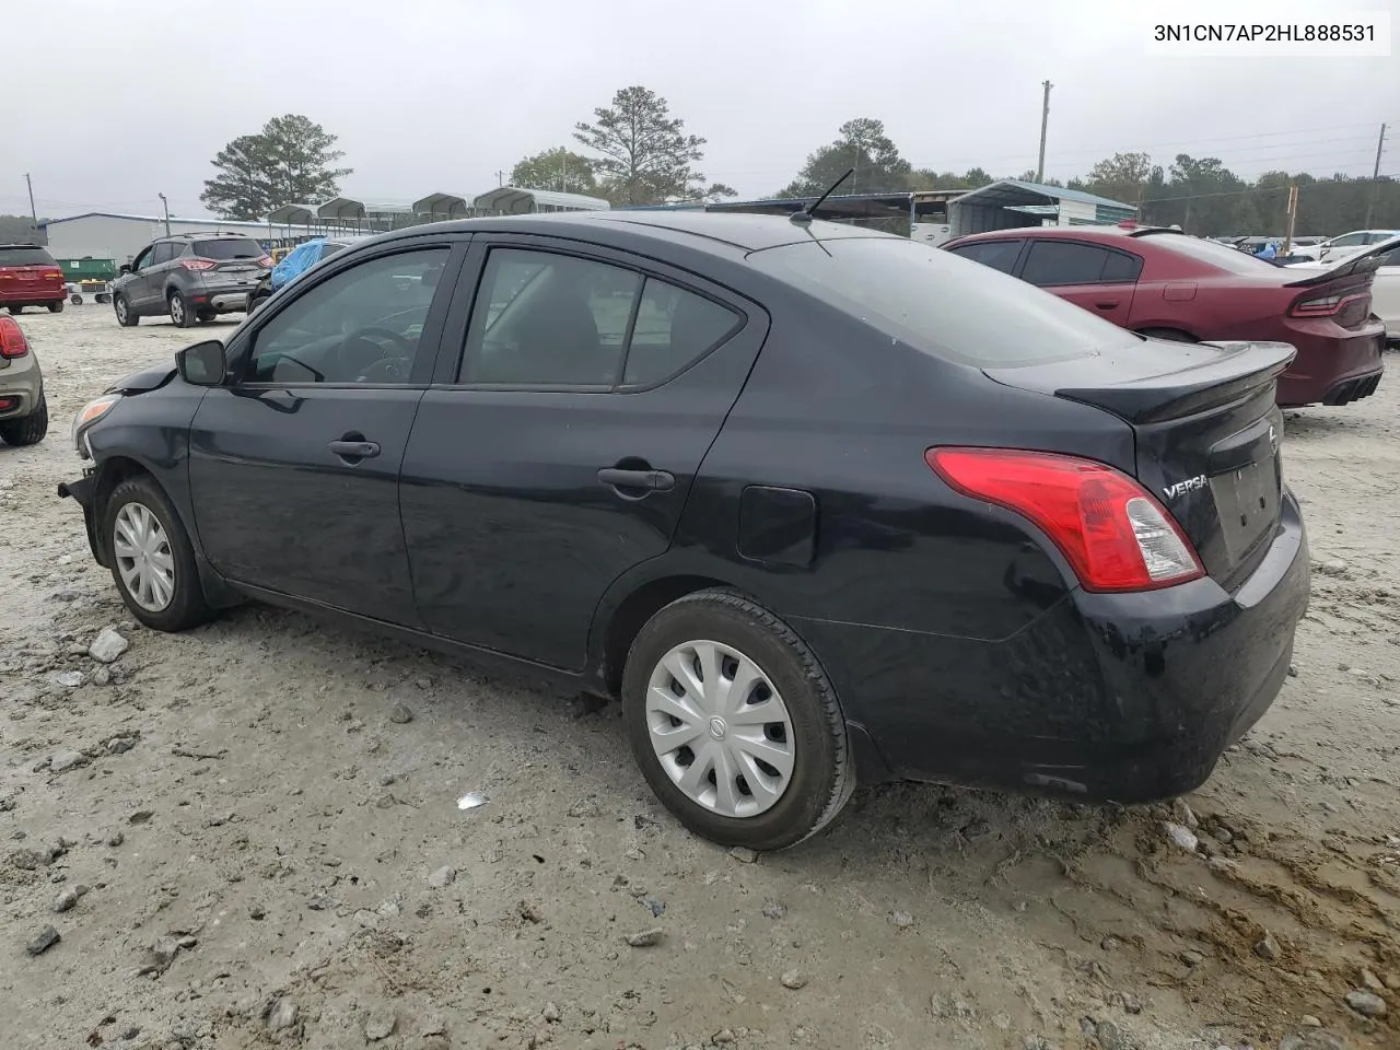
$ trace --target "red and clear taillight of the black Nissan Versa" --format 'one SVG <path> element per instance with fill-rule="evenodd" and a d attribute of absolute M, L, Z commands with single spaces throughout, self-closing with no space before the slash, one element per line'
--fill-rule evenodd
<path fill-rule="evenodd" d="M 1152 591 L 1205 575 L 1172 515 L 1112 466 L 1000 448 L 931 448 L 924 459 L 963 496 L 1040 526 L 1085 591 Z"/>

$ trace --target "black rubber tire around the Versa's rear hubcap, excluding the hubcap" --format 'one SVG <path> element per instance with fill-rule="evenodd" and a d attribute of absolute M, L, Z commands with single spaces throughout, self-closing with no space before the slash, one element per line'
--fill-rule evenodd
<path fill-rule="evenodd" d="M 724 816 L 692 801 L 671 780 L 651 745 L 645 703 L 652 671 L 672 648 L 700 640 L 742 652 L 787 707 L 794 738 L 792 776 L 777 802 L 753 816 Z M 680 823 L 722 846 L 795 846 L 834 820 L 855 790 L 846 720 L 822 665 L 783 620 L 732 591 L 686 595 L 643 626 L 627 654 L 622 707 L 633 756 L 651 790 Z"/>

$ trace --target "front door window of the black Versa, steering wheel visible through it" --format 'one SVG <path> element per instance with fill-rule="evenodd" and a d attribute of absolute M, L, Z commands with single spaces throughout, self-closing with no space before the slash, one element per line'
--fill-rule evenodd
<path fill-rule="evenodd" d="M 300 294 L 253 337 L 251 382 L 407 382 L 447 248 L 368 259 Z"/>

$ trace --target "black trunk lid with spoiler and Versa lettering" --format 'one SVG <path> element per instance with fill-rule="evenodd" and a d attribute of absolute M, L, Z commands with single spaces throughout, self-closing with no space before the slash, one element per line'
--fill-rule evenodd
<path fill-rule="evenodd" d="M 1133 427 L 1137 480 L 1176 518 L 1205 571 L 1232 589 L 1278 525 L 1284 421 L 1274 388 L 1295 354 L 1288 343 L 1145 340 L 1127 351 L 984 371 Z"/>

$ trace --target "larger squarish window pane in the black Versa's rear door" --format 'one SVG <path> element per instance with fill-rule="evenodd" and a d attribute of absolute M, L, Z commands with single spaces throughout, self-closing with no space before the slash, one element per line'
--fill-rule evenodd
<path fill-rule="evenodd" d="M 466 333 L 462 382 L 612 386 L 641 276 L 550 252 L 497 248 Z"/>

